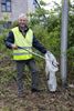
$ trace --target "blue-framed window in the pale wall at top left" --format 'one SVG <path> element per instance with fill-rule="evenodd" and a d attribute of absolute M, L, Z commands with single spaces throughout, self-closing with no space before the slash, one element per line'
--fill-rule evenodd
<path fill-rule="evenodd" d="M 1 11 L 11 12 L 11 0 L 1 0 Z"/>

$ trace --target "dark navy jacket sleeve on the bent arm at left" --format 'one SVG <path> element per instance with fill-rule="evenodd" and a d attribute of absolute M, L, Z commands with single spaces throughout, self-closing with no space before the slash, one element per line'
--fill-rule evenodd
<path fill-rule="evenodd" d="M 8 33 L 8 37 L 4 40 L 4 43 L 6 43 L 7 48 L 12 49 L 11 44 L 14 43 L 14 36 L 13 36 L 13 32 L 12 31 L 10 31 Z"/>

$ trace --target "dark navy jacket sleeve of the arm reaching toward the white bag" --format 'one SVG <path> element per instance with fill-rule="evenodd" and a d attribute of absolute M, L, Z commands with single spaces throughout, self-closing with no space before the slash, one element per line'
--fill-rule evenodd
<path fill-rule="evenodd" d="M 46 49 L 42 46 L 42 43 L 33 36 L 33 48 L 41 51 L 43 54 L 46 53 Z"/>

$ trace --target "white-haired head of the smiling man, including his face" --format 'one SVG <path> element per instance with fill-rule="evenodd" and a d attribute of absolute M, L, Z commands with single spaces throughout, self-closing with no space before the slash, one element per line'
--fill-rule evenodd
<path fill-rule="evenodd" d="M 28 24 L 28 18 L 24 13 L 21 13 L 18 18 L 18 22 L 19 22 L 19 26 L 21 28 L 25 27 Z"/>

